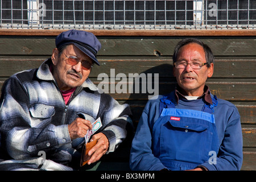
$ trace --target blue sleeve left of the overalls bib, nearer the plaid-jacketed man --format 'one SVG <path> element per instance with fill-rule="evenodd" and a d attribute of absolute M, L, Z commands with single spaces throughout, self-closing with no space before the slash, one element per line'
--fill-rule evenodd
<path fill-rule="evenodd" d="M 166 168 L 158 158 L 152 154 L 151 150 L 151 129 L 154 125 L 154 118 L 158 118 L 158 109 L 155 108 L 159 102 L 154 102 L 154 106 L 148 101 L 141 119 L 139 120 L 130 154 L 130 168 L 136 171 L 159 171 Z M 158 104 L 157 104 L 158 103 Z M 148 111 L 150 110 L 150 113 Z"/>

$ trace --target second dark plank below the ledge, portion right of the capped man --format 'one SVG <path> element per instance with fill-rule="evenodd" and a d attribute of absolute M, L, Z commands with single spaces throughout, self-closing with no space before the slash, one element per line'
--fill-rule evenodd
<path fill-rule="evenodd" d="M 158 73 L 159 77 L 174 77 L 172 75 L 172 59 L 137 59 L 137 60 L 100 60 L 100 67 L 94 67 L 90 77 L 100 73 L 110 76 L 110 69 L 115 74 L 125 73 Z M 213 78 L 255 78 L 256 59 L 216 59 L 214 61 Z"/>

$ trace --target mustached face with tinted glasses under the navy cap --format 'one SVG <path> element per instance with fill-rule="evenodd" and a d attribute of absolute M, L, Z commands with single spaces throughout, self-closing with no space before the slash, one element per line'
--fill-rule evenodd
<path fill-rule="evenodd" d="M 88 78 L 91 71 L 91 68 L 82 69 L 81 62 L 76 65 L 67 64 L 66 60 L 68 57 L 65 55 L 68 57 L 77 57 L 81 61 L 90 61 L 90 63 L 93 63 L 89 56 L 73 44 L 68 45 L 60 56 L 57 48 L 53 49 L 53 77 L 55 77 L 60 90 L 69 90 L 71 88 L 81 86 L 86 78 Z"/>

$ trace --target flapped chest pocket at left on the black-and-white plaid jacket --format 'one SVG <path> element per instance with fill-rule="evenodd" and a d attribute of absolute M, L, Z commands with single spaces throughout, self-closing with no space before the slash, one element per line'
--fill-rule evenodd
<path fill-rule="evenodd" d="M 30 107 L 30 114 L 34 118 L 50 118 L 55 114 L 54 106 L 35 104 Z"/>

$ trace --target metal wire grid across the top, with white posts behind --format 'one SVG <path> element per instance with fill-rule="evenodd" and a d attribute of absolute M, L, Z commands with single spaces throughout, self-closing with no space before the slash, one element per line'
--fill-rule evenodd
<path fill-rule="evenodd" d="M 1 28 L 256 28 L 256 0 L 1 0 Z"/>

